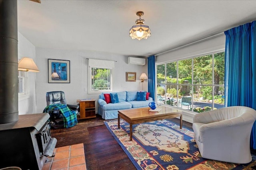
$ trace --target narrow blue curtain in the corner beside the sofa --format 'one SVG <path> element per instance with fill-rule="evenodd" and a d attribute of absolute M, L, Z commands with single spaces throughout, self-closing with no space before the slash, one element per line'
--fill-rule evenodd
<path fill-rule="evenodd" d="M 156 83 L 156 57 L 154 55 L 148 57 L 148 92 L 150 97 L 155 100 L 155 83 Z"/>

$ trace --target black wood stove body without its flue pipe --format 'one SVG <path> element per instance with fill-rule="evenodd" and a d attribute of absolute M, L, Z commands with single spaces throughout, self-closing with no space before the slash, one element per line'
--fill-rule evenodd
<path fill-rule="evenodd" d="M 0 168 L 42 169 L 57 143 L 51 137 L 49 117 L 48 113 L 19 115 L 14 123 L 0 124 Z"/>

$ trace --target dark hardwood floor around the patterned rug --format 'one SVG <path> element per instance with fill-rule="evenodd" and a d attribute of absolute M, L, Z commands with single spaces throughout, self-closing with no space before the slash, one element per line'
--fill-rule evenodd
<path fill-rule="evenodd" d="M 56 147 L 78 143 L 84 144 L 87 170 L 136 170 L 126 153 L 116 142 L 98 114 L 93 119 L 79 120 L 74 127 L 52 129 Z M 180 123 L 180 119 L 171 119 Z M 183 121 L 183 125 L 192 128 L 192 124 Z"/>

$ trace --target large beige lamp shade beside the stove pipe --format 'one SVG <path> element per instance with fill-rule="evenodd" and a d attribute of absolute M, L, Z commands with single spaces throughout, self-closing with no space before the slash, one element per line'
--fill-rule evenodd
<path fill-rule="evenodd" d="M 40 72 L 33 59 L 23 57 L 18 63 L 19 71 Z"/>

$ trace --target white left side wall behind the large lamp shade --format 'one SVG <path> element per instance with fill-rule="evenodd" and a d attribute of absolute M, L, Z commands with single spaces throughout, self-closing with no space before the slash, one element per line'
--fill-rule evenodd
<path fill-rule="evenodd" d="M 30 57 L 36 63 L 36 48 L 22 34 L 18 32 L 18 58 Z M 39 68 L 40 69 L 40 68 Z M 19 115 L 36 113 L 36 74 L 27 72 L 28 94 L 25 97 L 19 97 L 18 111 Z"/>

